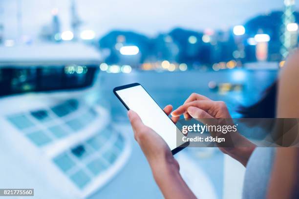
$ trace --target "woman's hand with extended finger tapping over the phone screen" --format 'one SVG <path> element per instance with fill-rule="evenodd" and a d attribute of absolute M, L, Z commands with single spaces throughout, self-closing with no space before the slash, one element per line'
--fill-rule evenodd
<path fill-rule="evenodd" d="M 193 93 L 184 102 L 184 104 L 174 110 L 171 115 L 175 118 L 179 117 L 180 115 L 184 115 L 185 119 L 194 118 L 202 123 L 207 123 L 209 125 L 215 125 L 215 122 L 221 125 L 221 122 L 223 121 L 225 122 L 225 124 L 222 125 L 233 125 L 231 115 L 229 114 L 226 104 L 223 101 L 213 101 L 205 96 L 196 93 Z M 224 120 L 220 121 L 219 119 Z M 212 136 L 215 136 L 214 132 L 210 133 L 212 134 Z M 229 156 L 238 160 L 240 163 L 246 166 L 248 159 L 256 148 L 256 145 L 238 133 L 230 133 L 229 135 L 223 134 L 222 136 L 231 139 L 233 143 L 237 142 L 238 146 L 244 146 L 219 147 L 219 149 L 223 153 L 228 154 Z"/>

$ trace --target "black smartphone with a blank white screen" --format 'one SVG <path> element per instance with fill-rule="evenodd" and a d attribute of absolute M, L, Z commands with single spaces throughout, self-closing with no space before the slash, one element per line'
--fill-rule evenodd
<path fill-rule="evenodd" d="M 135 111 L 143 123 L 158 133 L 168 144 L 172 154 L 189 145 L 182 138 L 184 134 L 160 108 L 155 100 L 139 83 L 119 86 L 113 93 L 128 110 Z"/>

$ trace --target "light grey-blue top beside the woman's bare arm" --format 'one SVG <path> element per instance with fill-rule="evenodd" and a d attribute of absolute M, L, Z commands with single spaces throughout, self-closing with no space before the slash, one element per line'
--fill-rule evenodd
<path fill-rule="evenodd" d="M 257 147 L 245 172 L 243 199 L 265 199 L 275 158 L 275 148 Z"/>

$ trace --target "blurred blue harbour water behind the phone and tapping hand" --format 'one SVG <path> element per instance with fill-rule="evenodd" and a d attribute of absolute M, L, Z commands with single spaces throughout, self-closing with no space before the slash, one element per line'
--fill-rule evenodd
<path fill-rule="evenodd" d="M 238 115 L 238 104 L 249 105 L 258 100 L 260 93 L 277 77 L 277 71 L 226 70 L 218 72 L 132 72 L 130 74 L 99 74 L 102 95 L 111 102 L 112 117 L 117 119 L 124 114 L 125 108 L 114 97 L 112 89 L 116 86 L 138 82 L 142 84 L 157 103 L 164 107 L 181 105 L 193 92 L 205 95 L 212 100 L 222 100 L 228 105 L 233 117 Z M 219 92 L 209 87 L 213 81 L 220 86 L 223 83 L 242 85 L 241 89 Z"/>

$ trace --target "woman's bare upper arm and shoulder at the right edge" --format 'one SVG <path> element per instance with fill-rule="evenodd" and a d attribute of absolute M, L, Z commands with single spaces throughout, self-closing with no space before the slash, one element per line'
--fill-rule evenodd
<path fill-rule="evenodd" d="M 299 118 L 299 53 L 285 64 L 278 82 L 277 118 Z M 299 133 L 299 132 L 298 132 Z M 297 134 L 299 136 L 299 134 Z M 278 148 L 268 189 L 268 199 L 298 198 L 299 149 Z M 297 188 L 296 188 L 297 186 Z M 297 195 L 297 196 L 295 196 Z"/>

